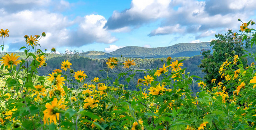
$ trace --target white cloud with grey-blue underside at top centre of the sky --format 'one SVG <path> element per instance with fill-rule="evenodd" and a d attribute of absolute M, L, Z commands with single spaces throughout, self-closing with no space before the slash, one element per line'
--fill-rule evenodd
<path fill-rule="evenodd" d="M 132 0 L 131 8 L 122 12 L 113 11 L 106 27 L 110 30 L 125 26 L 140 26 L 169 15 L 171 0 Z"/>

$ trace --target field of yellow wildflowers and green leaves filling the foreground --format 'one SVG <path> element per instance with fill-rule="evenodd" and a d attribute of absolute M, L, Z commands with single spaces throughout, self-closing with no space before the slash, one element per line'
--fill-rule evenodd
<path fill-rule="evenodd" d="M 242 23 L 239 33 L 231 32 L 231 40 L 256 45 L 256 31 L 250 28 L 254 24 Z M 171 57 L 141 79 L 123 72 L 114 81 L 108 76 L 88 80 L 90 75 L 74 71 L 68 60 L 46 77 L 37 75 L 37 69 L 47 65 L 49 53 L 39 44 L 46 33 L 25 35 L 26 46 L 20 51 L 26 59 L 19 59 L 5 53 L 8 32 L 0 30 L 0 130 L 256 130 L 256 68 L 243 62 L 256 59 L 256 53 L 240 56 L 233 50 L 215 68 L 218 74 L 212 74 L 220 79 L 212 78 L 210 83 L 189 75 L 182 68 L 183 60 Z M 136 65 L 115 57 L 106 64 L 107 71 L 116 65 Z M 127 84 L 119 84 L 121 77 Z M 129 89 L 130 82 L 136 84 L 135 90 Z M 200 92 L 192 92 L 194 84 Z"/>

